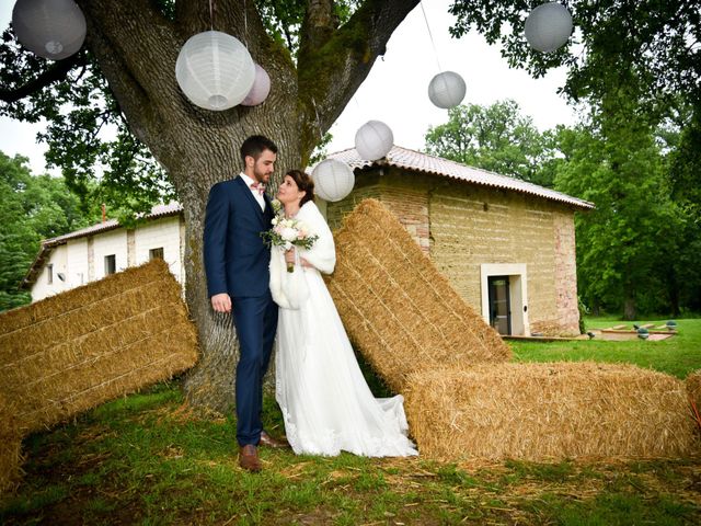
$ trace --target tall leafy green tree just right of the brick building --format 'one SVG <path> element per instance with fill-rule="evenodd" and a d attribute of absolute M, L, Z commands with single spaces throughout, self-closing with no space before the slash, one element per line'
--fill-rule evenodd
<path fill-rule="evenodd" d="M 683 221 L 655 127 L 630 101 L 621 89 L 587 125 L 561 130 L 570 159 L 555 178 L 556 190 L 596 204 L 576 216 L 579 294 L 595 311 L 622 310 L 627 320 L 669 310 L 664 268 Z"/>

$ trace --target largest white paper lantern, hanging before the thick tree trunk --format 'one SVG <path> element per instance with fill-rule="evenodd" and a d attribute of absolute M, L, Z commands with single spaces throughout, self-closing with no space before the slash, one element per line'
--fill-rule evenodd
<path fill-rule="evenodd" d="M 192 36 L 180 50 L 175 78 L 193 104 L 222 111 L 240 104 L 249 94 L 255 66 L 238 38 L 205 31 Z"/>

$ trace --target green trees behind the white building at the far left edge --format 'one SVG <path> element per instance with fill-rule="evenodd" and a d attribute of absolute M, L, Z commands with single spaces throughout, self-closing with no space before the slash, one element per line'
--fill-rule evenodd
<path fill-rule="evenodd" d="M 26 162 L 26 158 L 0 152 L 0 310 L 31 301 L 19 286 L 43 239 L 89 224 L 80 199 L 62 178 L 34 176 Z"/>

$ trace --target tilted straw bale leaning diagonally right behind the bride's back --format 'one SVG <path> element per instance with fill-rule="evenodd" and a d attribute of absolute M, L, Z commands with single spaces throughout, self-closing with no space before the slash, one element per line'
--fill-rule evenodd
<path fill-rule="evenodd" d="M 334 239 L 329 291 L 352 342 L 394 391 L 417 370 L 510 358 L 380 202 L 361 202 Z"/>

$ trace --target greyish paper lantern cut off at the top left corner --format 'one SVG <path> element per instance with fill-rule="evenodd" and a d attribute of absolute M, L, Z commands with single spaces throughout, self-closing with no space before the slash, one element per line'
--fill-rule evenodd
<path fill-rule="evenodd" d="M 18 0 L 12 27 L 24 47 L 51 60 L 70 57 L 85 39 L 85 16 L 73 0 Z"/>

